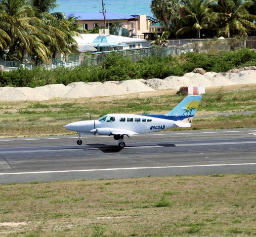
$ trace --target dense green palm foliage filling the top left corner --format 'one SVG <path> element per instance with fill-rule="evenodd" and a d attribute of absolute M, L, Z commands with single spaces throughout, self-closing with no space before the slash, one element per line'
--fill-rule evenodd
<path fill-rule="evenodd" d="M 0 57 L 21 61 L 29 53 L 35 61 L 47 61 L 56 52 L 71 52 L 73 36 L 84 29 L 76 17 L 51 13 L 55 1 L 0 0 Z"/>

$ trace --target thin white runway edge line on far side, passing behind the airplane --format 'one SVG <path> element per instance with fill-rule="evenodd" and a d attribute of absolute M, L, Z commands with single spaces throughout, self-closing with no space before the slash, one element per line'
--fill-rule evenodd
<path fill-rule="evenodd" d="M 207 133 L 233 133 L 233 132 L 254 132 L 256 130 L 247 130 L 247 131 L 216 131 L 216 132 L 186 132 L 186 133 L 163 133 L 163 134 L 138 134 L 133 136 L 164 136 L 164 135 L 189 135 L 189 134 L 207 134 Z M 109 136 L 100 136 L 100 137 L 109 137 Z M 0 140 L 0 142 L 9 142 L 9 141 L 34 141 L 34 140 L 57 140 L 57 139 L 71 139 L 78 137 L 50 137 L 50 138 L 28 138 L 28 139 L 10 139 L 10 140 Z M 95 136 L 84 136 L 83 138 L 95 138 Z"/>

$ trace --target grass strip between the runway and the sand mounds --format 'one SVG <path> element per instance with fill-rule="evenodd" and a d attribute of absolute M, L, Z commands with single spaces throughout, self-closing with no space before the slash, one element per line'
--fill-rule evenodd
<path fill-rule="evenodd" d="M 183 98 L 174 93 L 0 102 L 0 137 L 69 134 L 63 125 L 90 115 L 97 119 L 108 113 L 165 114 Z M 212 89 L 203 96 L 189 129 L 256 127 L 255 111 L 256 85 Z"/>

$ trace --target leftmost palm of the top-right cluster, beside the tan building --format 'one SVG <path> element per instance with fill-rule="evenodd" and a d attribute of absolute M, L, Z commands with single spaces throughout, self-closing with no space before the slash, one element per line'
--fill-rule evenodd
<path fill-rule="evenodd" d="M 164 23 L 168 31 L 172 19 L 179 15 L 179 0 L 152 0 L 150 5 L 154 16 Z"/>

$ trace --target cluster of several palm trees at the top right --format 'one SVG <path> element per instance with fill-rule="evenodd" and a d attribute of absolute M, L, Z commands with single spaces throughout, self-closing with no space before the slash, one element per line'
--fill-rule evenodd
<path fill-rule="evenodd" d="M 248 36 L 256 30 L 256 0 L 152 0 L 151 9 L 176 36 L 195 32 L 200 38 L 201 30 Z"/>

